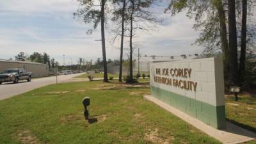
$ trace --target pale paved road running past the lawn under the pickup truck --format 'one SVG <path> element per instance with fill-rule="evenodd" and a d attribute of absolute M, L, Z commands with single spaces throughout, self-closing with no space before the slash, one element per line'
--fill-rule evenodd
<path fill-rule="evenodd" d="M 63 83 L 65 81 L 70 81 L 72 77 L 79 76 L 80 74 L 70 74 L 58 76 L 58 83 Z M 3 83 L 0 84 L 0 100 L 13 97 L 14 95 L 19 95 L 24 92 L 28 92 L 35 88 L 40 88 L 48 84 L 56 83 L 56 77 L 43 77 L 38 79 L 31 79 L 31 82 L 19 81 L 17 84 L 13 83 Z"/>

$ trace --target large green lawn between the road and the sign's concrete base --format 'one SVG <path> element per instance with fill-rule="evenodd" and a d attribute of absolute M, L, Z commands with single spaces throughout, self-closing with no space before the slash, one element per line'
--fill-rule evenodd
<path fill-rule="evenodd" d="M 93 81 L 52 84 L 1 100 L 0 143 L 220 143 L 144 100 L 148 93 L 148 83 Z M 86 96 L 97 123 L 83 118 Z"/>

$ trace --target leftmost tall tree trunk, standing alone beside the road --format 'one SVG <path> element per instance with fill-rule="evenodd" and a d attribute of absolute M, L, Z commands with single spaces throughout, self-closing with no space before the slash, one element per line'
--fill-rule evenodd
<path fill-rule="evenodd" d="M 105 46 L 105 31 L 104 31 L 104 9 L 105 9 L 105 0 L 101 0 L 100 23 L 101 23 L 101 42 L 102 42 L 102 55 L 103 55 L 103 71 L 104 71 L 104 82 L 108 82 L 108 68 L 107 68 L 106 46 Z"/>

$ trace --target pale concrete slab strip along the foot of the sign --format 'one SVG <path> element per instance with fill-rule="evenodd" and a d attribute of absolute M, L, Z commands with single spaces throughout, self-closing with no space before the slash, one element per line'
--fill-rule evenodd
<path fill-rule="evenodd" d="M 188 114 L 180 111 L 179 109 L 173 108 L 172 106 L 150 95 L 145 95 L 144 99 L 154 102 L 161 108 L 166 109 L 167 111 L 173 113 L 173 115 L 178 116 L 185 122 L 188 122 L 189 124 L 193 125 L 197 129 L 200 129 L 201 131 L 205 132 L 209 136 L 212 136 L 213 138 L 216 138 L 222 143 L 236 144 L 236 143 L 243 143 L 246 141 L 252 141 L 256 139 L 256 134 L 254 132 L 243 129 L 242 127 L 238 127 L 237 125 L 231 124 L 230 122 L 227 122 L 226 129 L 221 129 L 221 130 L 215 129 L 201 122 L 200 120 L 193 118 L 192 116 L 189 116 Z"/>

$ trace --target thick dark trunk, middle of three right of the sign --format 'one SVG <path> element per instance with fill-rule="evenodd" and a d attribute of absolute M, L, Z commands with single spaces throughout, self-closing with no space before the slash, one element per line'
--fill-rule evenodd
<path fill-rule="evenodd" d="M 230 82 L 237 85 L 238 67 L 237 67 L 237 34 L 236 34 L 236 1 L 228 0 L 228 31 L 229 31 L 229 49 L 230 49 Z"/>

